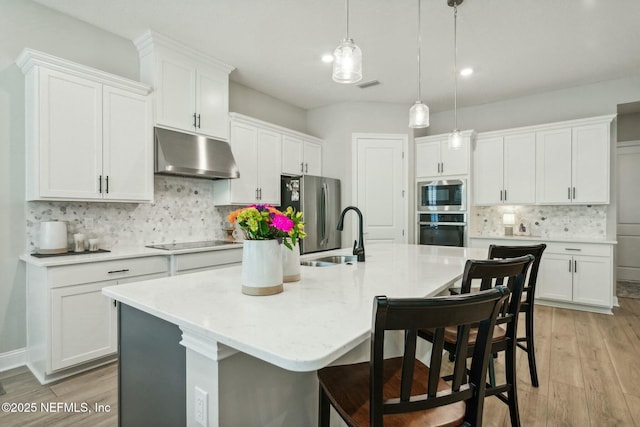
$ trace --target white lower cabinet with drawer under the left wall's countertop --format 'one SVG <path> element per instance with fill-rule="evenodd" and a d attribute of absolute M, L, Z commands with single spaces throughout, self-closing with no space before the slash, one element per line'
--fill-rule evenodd
<path fill-rule="evenodd" d="M 36 378 L 44 384 L 115 355 L 117 307 L 102 288 L 168 275 L 166 256 L 27 264 L 27 364 Z"/>

